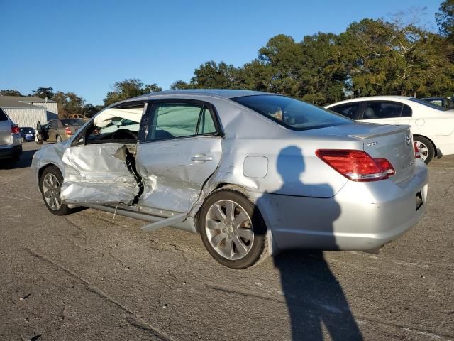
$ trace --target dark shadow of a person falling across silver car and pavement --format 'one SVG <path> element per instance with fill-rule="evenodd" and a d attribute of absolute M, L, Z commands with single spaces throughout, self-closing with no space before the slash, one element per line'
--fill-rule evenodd
<path fill-rule="evenodd" d="M 277 171 L 282 178 L 282 187 L 267 195 L 314 193 L 322 190 L 323 193 L 328 193 L 326 196 L 333 197 L 333 190 L 328 184 L 302 183 L 300 175 L 304 173 L 304 168 L 304 158 L 299 147 L 289 146 L 282 149 L 277 157 Z M 316 226 L 314 222 L 305 221 L 304 215 L 301 215 L 304 211 L 299 211 L 294 212 L 299 219 L 292 219 L 292 226 L 273 226 L 273 231 L 281 229 L 288 232 L 297 229 L 301 232 L 304 229 L 319 229 L 321 239 L 317 242 L 314 237 L 307 237 L 309 242 L 314 240 L 319 243 L 323 240 L 326 249 L 338 249 L 333 236 L 333 222 L 341 214 L 341 207 L 335 200 L 329 199 L 323 202 L 323 205 L 311 207 L 309 210 L 317 210 L 317 217 L 320 219 Z M 291 321 L 292 340 L 324 340 L 326 333 L 332 340 L 362 340 L 341 285 L 332 274 L 323 252 L 288 251 L 275 256 L 274 264 L 281 276 L 282 293 Z"/>

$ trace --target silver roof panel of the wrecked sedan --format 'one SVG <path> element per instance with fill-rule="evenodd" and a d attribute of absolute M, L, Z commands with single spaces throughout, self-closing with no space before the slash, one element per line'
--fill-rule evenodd
<path fill-rule="evenodd" d="M 204 95 L 208 97 L 222 97 L 232 99 L 236 97 L 257 96 L 260 94 L 272 94 L 270 92 L 252 91 L 252 90 L 231 90 L 231 89 L 187 89 L 187 90 L 165 90 L 143 94 L 132 99 L 153 99 L 153 97 L 167 95 Z M 277 95 L 277 94 L 275 94 Z"/>

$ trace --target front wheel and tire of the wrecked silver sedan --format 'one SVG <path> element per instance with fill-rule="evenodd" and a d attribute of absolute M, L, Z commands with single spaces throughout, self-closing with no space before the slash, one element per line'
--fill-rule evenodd
<path fill-rule="evenodd" d="M 56 184 L 55 181 L 57 181 Z M 43 174 L 40 176 L 39 186 L 41 195 L 43 195 L 45 207 L 53 215 L 67 215 L 71 212 L 70 208 L 61 202 L 60 190 L 62 183 L 62 173 L 56 166 L 45 168 Z M 52 198 L 55 198 L 57 201 L 52 200 Z"/>

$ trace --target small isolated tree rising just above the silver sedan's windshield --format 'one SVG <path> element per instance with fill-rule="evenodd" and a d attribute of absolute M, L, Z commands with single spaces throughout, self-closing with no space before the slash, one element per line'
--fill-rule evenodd
<path fill-rule="evenodd" d="M 104 104 L 108 106 L 124 99 L 157 91 L 162 91 L 162 89 L 155 83 L 151 85 L 144 85 L 141 80 L 136 78 L 122 80 L 121 82 L 116 82 L 114 84 L 114 90 L 107 92 Z"/>

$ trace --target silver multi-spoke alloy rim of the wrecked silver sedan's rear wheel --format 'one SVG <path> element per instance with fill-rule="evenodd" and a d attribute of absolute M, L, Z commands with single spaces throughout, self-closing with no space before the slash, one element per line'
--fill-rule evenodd
<path fill-rule="evenodd" d="M 253 224 L 243 207 L 231 200 L 219 200 L 206 213 L 205 231 L 214 250 L 235 261 L 248 254 L 254 242 Z"/>

